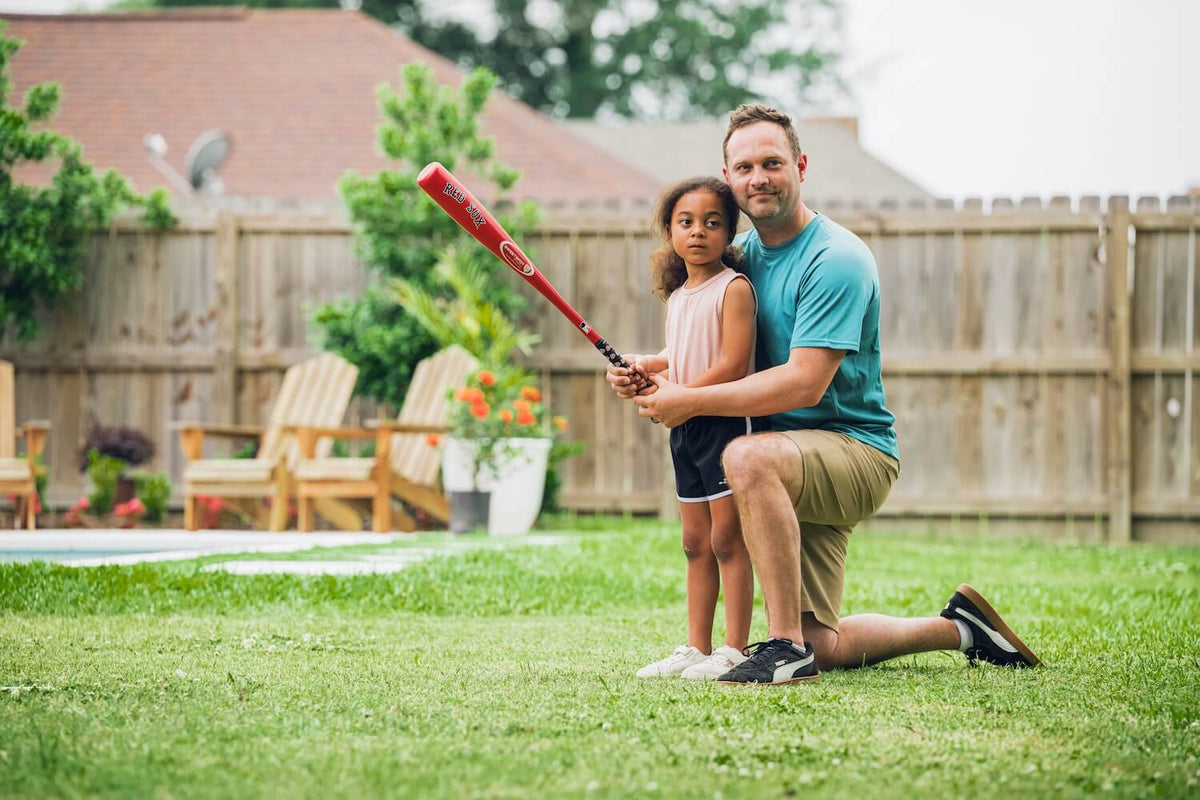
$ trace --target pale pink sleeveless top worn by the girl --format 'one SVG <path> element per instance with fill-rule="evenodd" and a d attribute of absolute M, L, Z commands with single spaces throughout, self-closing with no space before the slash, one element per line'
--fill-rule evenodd
<path fill-rule="evenodd" d="M 725 307 L 725 290 L 738 278 L 745 276 L 725 267 L 694 289 L 679 287 L 671 293 L 667 299 L 667 360 L 671 383 L 691 383 L 708 372 L 708 368 L 721 357 L 721 311 Z M 754 291 L 752 285 L 750 290 Z M 754 372 L 752 349 L 746 374 L 751 372 Z"/>

